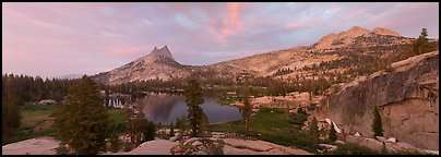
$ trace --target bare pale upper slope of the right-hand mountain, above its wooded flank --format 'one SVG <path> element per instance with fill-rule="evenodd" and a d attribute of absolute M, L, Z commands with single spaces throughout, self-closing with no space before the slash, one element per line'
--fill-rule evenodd
<path fill-rule="evenodd" d="M 213 69 L 231 67 L 255 73 L 260 76 L 267 76 L 274 74 L 279 69 L 289 68 L 300 72 L 300 69 L 305 67 L 311 67 L 321 62 L 331 62 L 350 56 L 348 53 L 338 53 L 338 50 L 342 49 L 354 49 L 354 53 L 361 53 L 360 50 L 362 49 L 368 51 L 369 48 L 400 46 L 409 44 L 410 41 L 410 38 L 402 37 L 400 34 L 386 28 L 376 28 L 373 32 L 370 32 L 366 28 L 354 26 L 346 32 L 324 36 L 312 46 L 300 46 L 254 55 L 208 67 Z M 383 55 L 388 52 L 384 50 Z"/>

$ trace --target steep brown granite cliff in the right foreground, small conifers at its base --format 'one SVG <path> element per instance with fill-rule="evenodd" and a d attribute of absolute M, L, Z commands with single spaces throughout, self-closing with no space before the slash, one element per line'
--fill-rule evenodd
<path fill-rule="evenodd" d="M 372 137 L 373 107 L 381 111 L 385 137 L 439 149 L 439 51 L 395 62 L 341 87 L 322 99 L 315 116 L 344 132 Z"/>

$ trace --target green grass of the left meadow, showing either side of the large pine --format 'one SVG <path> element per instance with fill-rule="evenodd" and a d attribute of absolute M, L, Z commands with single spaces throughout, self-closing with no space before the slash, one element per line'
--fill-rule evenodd
<path fill-rule="evenodd" d="M 20 128 L 11 135 L 3 136 L 2 145 L 24 141 L 38 136 L 56 136 L 57 130 L 52 126 L 53 118 L 49 116 L 58 108 L 58 105 L 25 104 L 22 108 Z M 109 118 L 117 125 L 116 132 L 124 131 L 124 110 L 108 109 Z"/>

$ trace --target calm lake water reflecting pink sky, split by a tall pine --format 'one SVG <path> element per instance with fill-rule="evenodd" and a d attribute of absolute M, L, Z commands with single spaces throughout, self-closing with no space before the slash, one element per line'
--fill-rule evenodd
<path fill-rule="evenodd" d="M 241 119 L 239 109 L 231 106 L 219 105 L 215 96 L 205 96 L 201 105 L 210 123 L 226 122 Z M 147 95 L 135 101 L 143 107 L 146 118 L 156 123 L 176 123 L 176 118 L 187 116 L 186 97 L 169 94 Z"/>

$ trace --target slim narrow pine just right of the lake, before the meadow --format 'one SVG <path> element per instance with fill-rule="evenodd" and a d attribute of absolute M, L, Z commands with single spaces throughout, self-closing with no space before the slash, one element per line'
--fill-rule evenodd
<path fill-rule="evenodd" d="M 243 85 L 243 96 L 242 96 L 243 107 L 240 108 L 240 113 L 242 114 L 243 118 L 246 134 L 249 134 L 250 117 L 252 113 L 252 107 L 250 104 L 250 90 L 251 89 L 249 86 L 249 82 L 246 82 Z"/>

